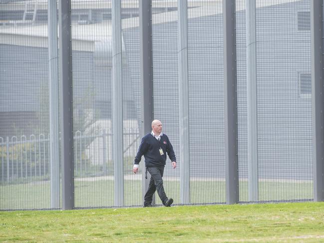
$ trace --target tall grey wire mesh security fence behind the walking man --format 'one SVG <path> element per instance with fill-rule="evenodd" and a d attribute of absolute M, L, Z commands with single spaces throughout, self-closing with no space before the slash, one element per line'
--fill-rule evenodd
<path fill-rule="evenodd" d="M 140 0 L 70 2 L 71 53 L 61 57 L 56 1 L 0 0 L 0 210 L 62 208 L 61 58 L 72 63 L 74 208 L 142 205 L 144 159 L 137 175 L 132 166 L 148 112 L 177 157 L 167 195 L 227 203 L 226 1 L 149 0 L 144 13 Z M 314 2 L 231 2 L 238 202 L 312 201 Z"/>

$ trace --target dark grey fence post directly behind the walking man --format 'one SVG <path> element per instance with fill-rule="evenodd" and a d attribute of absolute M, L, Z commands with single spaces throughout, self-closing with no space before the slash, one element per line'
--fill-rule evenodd
<path fill-rule="evenodd" d="M 153 120 L 153 62 L 152 62 L 152 0 L 139 0 L 140 73 L 141 73 L 141 124 L 140 136 L 151 132 Z M 141 163 L 145 167 L 145 163 Z M 148 188 L 151 176 L 142 170 L 142 196 Z M 152 204 L 155 204 L 153 196 Z"/>

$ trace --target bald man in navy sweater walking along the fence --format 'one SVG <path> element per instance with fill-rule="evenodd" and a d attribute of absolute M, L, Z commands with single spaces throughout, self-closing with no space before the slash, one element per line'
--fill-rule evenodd
<path fill-rule="evenodd" d="M 167 135 L 162 133 L 162 123 L 159 120 L 152 121 L 152 132 L 146 134 L 138 148 L 137 155 L 134 160 L 133 172 L 138 171 L 138 164 L 145 158 L 145 174 L 147 171 L 151 174 L 151 180 L 144 196 L 144 207 L 152 207 L 152 199 L 155 190 L 157 191 L 162 203 L 166 207 L 170 207 L 173 203 L 172 198 L 168 198 L 163 188 L 163 172 L 166 161 L 166 153 L 172 161 L 172 168 L 177 167 L 176 156 L 173 151 L 172 144 Z M 147 178 L 147 176 L 145 176 Z"/>

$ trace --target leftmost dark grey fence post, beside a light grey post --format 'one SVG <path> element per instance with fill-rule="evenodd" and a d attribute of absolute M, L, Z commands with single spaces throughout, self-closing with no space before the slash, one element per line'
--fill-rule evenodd
<path fill-rule="evenodd" d="M 74 207 L 71 0 L 58 1 L 62 209 Z"/>

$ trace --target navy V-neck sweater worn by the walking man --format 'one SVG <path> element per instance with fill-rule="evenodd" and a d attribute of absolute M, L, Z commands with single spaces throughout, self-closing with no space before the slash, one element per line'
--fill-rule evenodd
<path fill-rule="evenodd" d="M 160 148 L 163 150 L 163 155 L 160 154 Z M 151 133 L 148 133 L 142 138 L 134 164 L 138 165 L 142 155 L 144 155 L 146 167 L 164 166 L 167 159 L 166 153 L 168 153 L 171 161 L 176 162 L 176 156 L 168 136 L 162 134 L 160 141 L 158 141 Z"/>

